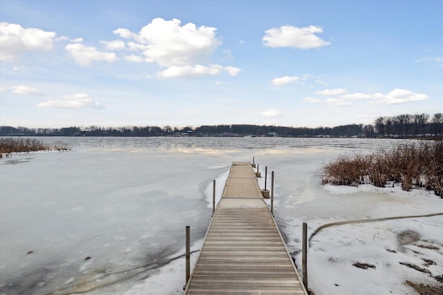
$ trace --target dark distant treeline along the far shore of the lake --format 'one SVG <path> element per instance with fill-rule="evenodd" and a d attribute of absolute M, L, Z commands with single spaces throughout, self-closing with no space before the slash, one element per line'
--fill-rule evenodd
<path fill-rule="evenodd" d="M 203 125 L 199 127 L 123 126 L 123 127 L 67 127 L 42 129 L 0 126 L 0 136 L 280 136 L 280 137 L 377 137 L 424 136 L 441 134 L 443 115 L 399 115 L 379 117 L 374 125 L 349 124 L 336 127 L 288 127 L 250 124 Z"/>

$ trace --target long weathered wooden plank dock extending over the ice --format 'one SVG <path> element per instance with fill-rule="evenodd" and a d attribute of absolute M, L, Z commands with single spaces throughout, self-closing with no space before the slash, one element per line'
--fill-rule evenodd
<path fill-rule="evenodd" d="M 233 162 L 184 294 L 307 294 L 249 162 Z"/>

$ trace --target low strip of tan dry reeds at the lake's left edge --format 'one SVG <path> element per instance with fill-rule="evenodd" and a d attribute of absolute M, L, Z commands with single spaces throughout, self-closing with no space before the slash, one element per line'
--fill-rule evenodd
<path fill-rule="evenodd" d="M 45 144 L 34 138 L 0 138 L 0 158 L 9 158 L 12 153 L 30 153 L 32 151 L 69 151 L 67 144 Z"/>

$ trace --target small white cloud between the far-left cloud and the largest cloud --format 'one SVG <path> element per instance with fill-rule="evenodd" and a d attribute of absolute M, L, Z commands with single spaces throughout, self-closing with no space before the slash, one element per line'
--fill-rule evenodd
<path fill-rule="evenodd" d="M 92 61 L 111 62 L 117 60 L 115 53 L 105 53 L 96 50 L 96 48 L 84 46 L 80 43 L 68 44 L 65 49 L 69 55 L 82 66 L 88 66 Z"/>

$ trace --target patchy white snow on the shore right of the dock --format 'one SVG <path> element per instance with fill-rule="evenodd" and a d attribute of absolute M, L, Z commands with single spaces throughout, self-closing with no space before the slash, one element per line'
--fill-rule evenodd
<path fill-rule="evenodd" d="M 370 198 L 365 198 L 368 197 Z M 437 198 L 424 199 L 426 197 L 408 196 L 406 193 L 397 193 L 390 197 L 386 202 L 361 201 L 367 204 L 365 216 L 361 218 L 424 215 L 437 213 L 441 207 L 441 201 Z M 331 221 L 333 220 L 314 220 L 314 225 Z M 310 223 L 308 221 L 308 225 Z M 442 275 L 441 225 L 442 215 L 327 227 L 318 232 L 310 242 L 310 287 L 316 290 L 316 294 L 352 294 L 352 290 L 359 290 L 359 294 L 411 294 L 410 289 L 403 285 L 405 280 L 437 285 L 437 281 L 431 276 L 399 263 L 407 262 L 423 267 L 423 259 L 430 259 L 436 265 L 431 265 L 428 270 L 433 276 Z M 418 233 L 419 240 L 401 245 L 399 235 L 407 231 Z M 439 249 L 435 251 L 419 245 L 433 245 Z M 376 268 L 358 269 L 353 266 L 356 262 L 369 263 Z"/>

